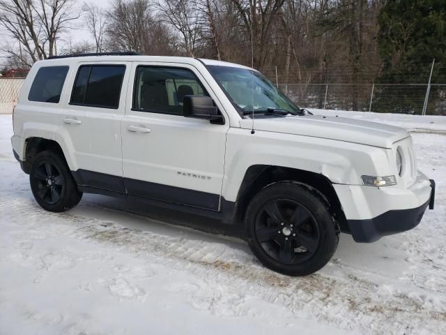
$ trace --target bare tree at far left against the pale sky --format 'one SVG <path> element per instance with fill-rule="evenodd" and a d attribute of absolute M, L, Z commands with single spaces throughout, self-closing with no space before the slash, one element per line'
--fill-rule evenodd
<path fill-rule="evenodd" d="M 0 24 L 32 62 L 56 54 L 59 35 L 79 15 L 73 0 L 0 0 Z M 13 48 L 5 51 L 21 57 Z"/>

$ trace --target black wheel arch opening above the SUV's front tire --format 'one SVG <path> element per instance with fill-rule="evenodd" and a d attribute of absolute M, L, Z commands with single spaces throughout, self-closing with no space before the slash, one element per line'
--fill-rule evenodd
<path fill-rule="evenodd" d="M 233 214 L 234 222 L 243 223 L 247 206 L 256 193 L 266 186 L 280 181 L 302 184 L 310 190 L 316 191 L 327 202 L 339 229 L 342 232 L 348 232 L 346 216 L 330 179 L 316 172 L 277 165 L 252 165 L 247 169 L 237 195 Z"/>

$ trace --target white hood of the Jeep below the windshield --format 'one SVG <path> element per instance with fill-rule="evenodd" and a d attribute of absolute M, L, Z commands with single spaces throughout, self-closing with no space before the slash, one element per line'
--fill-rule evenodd
<path fill-rule="evenodd" d="M 251 129 L 252 119 L 241 120 L 240 127 Z M 388 149 L 392 148 L 394 142 L 402 140 L 409 135 L 403 128 L 387 126 L 387 124 L 344 117 L 323 117 L 322 115 L 255 119 L 254 129 L 257 131 L 321 137 Z"/>

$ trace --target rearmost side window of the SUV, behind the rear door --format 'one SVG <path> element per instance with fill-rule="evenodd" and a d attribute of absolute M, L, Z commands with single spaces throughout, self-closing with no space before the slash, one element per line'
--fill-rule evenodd
<path fill-rule="evenodd" d="M 59 103 L 68 66 L 39 68 L 29 90 L 28 100 L 40 103 Z"/>

